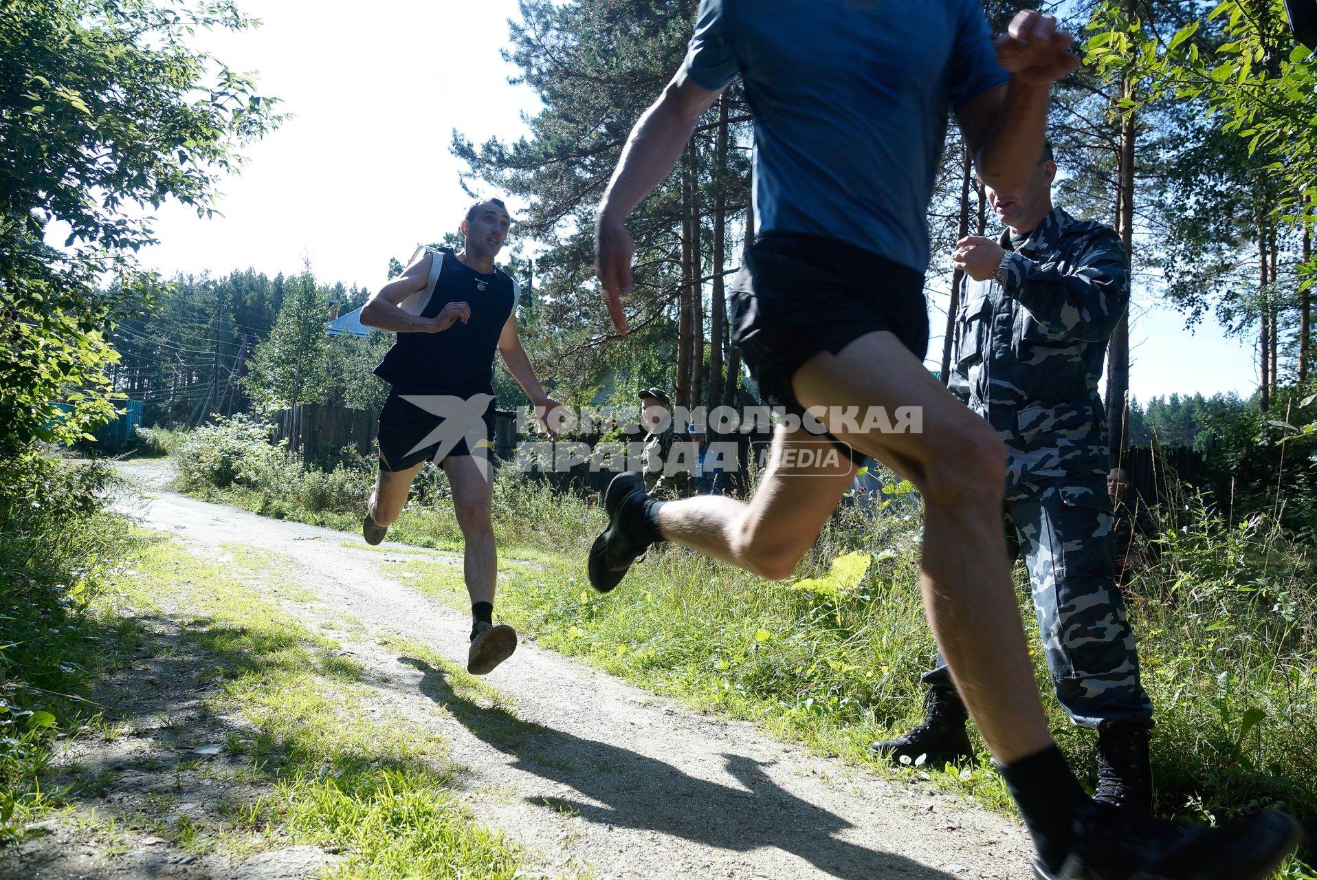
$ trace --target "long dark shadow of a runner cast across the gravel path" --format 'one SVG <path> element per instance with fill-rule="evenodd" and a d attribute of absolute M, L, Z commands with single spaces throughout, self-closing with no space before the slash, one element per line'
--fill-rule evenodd
<path fill-rule="evenodd" d="M 777 847 L 844 880 L 954 877 L 905 856 L 835 838 L 853 823 L 784 790 L 760 769 L 766 765 L 763 761 L 724 754 L 727 772 L 744 788 L 710 783 L 626 748 L 522 721 L 500 706 L 481 706 L 454 693 L 444 672 L 425 661 L 399 657 L 399 663 L 419 669 L 420 692 L 482 742 L 511 755 L 512 767 L 569 785 L 594 801 L 545 798 L 560 811 L 736 852 Z"/>

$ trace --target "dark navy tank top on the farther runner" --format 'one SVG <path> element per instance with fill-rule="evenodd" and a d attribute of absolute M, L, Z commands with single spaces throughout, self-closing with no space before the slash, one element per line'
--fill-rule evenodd
<path fill-rule="evenodd" d="M 444 265 L 421 317 L 436 317 L 448 303 L 466 303 L 471 317 L 443 333 L 398 333 L 375 375 L 396 394 L 493 394 L 494 352 L 516 302 L 516 283 L 497 267 L 477 273 L 448 249 L 432 258 Z"/>

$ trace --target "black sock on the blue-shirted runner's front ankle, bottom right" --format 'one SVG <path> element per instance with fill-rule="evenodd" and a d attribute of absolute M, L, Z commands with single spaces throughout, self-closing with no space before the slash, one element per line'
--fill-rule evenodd
<path fill-rule="evenodd" d="M 1038 856 L 1056 871 L 1069 851 L 1075 813 L 1090 798 L 1056 746 L 1006 767 L 998 764 L 997 771 L 1019 806 Z"/>

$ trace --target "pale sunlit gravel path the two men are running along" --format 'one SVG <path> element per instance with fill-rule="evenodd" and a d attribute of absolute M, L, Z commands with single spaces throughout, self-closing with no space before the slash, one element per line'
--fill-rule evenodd
<path fill-rule="evenodd" d="M 385 577 L 381 564 L 394 557 L 360 535 L 166 491 L 166 462 L 121 469 L 144 497 L 120 509 L 191 552 L 221 557 L 227 543 L 275 551 L 291 560 L 281 576 L 319 597 L 300 606 L 312 618 L 356 619 L 465 663 L 469 618 Z M 374 639 L 345 648 L 375 698 L 452 743 L 477 815 L 523 843 L 540 871 L 599 880 L 1031 875 L 1027 837 L 1008 817 L 810 756 L 533 644 L 486 677 L 511 713 L 457 697 L 443 673 Z"/>

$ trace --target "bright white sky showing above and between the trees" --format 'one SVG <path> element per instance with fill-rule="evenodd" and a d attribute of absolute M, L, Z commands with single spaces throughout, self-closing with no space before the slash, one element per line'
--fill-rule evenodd
<path fill-rule="evenodd" d="M 469 198 L 449 154 L 452 130 L 477 144 L 515 138 L 525 132 L 522 115 L 539 105 L 528 87 L 507 83 L 516 69 L 499 57 L 515 0 L 246 0 L 242 9 L 262 26 L 199 45 L 255 71 L 261 94 L 281 97 L 295 119 L 250 148 L 242 175 L 221 186 L 224 217 L 200 220 L 176 204 L 159 211 L 161 244 L 142 260 L 166 274 L 287 274 L 309 260 L 323 281 L 375 287 L 390 257 L 406 261 L 461 220 Z M 1210 317 L 1191 335 L 1147 291 L 1134 298 L 1135 397 L 1251 393 L 1249 348 Z M 946 296 L 934 306 L 936 361 Z"/>

